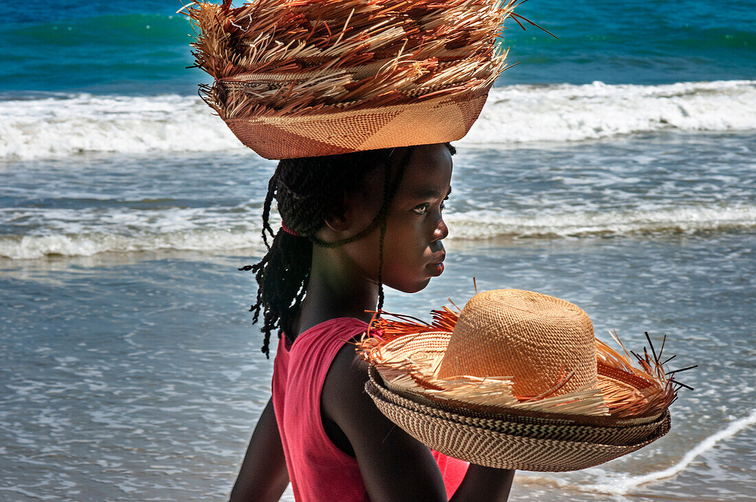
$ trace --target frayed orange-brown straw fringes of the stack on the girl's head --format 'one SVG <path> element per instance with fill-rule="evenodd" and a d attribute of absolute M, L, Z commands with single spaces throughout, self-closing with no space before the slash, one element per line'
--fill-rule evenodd
<path fill-rule="evenodd" d="M 256 0 L 239 8 L 194 2 L 181 11 L 195 26 L 194 66 L 215 79 L 201 89 L 203 99 L 222 118 L 240 119 L 389 106 L 488 88 L 507 68 L 507 51 L 494 41 L 516 5 Z M 380 63 L 377 74 L 361 70 L 374 63 Z M 324 74 L 313 75 L 318 72 Z"/>

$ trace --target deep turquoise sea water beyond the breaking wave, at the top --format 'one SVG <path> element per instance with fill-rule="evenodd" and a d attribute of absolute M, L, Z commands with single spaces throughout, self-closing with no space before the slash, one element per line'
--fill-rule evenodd
<path fill-rule="evenodd" d="M 2 91 L 194 94 L 180 2 L 11 2 L 0 20 Z M 662 84 L 752 79 L 756 5 L 707 0 L 530 0 L 503 44 L 520 66 L 501 84 Z"/>

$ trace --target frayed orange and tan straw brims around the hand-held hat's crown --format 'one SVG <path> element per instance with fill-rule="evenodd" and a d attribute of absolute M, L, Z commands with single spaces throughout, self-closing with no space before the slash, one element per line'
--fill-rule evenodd
<path fill-rule="evenodd" d="M 457 307 L 459 310 L 459 307 Z M 601 340 L 596 339 L 597 364 L 599 373 L 607 368 L 610 374 L 619 375 L 627 382 L 612 378 L 602 380 L 601 390 L 583 389 L 561 396 L 552 396 L 571 377 L 562 375 L 553 387 L 540 396 L 514 396 L 512 377 L 471 377 L 458 376 L 451 379 L 435 378 L 435 369 L 443 357 L 441 352 L 426 353 L 407 357 L 398 353 L 401 350 L 401 337 L 407 334 L 423 334 L 442 331 L 451 334 L 459 319 L 459 312 L 443 307 L 432 311 L 432 322 L 426 323 L 411 316 L 400 316 L 382 312 L 380 318 L 371 323 L 370 332 L 376 336 L 364 336 L 358 343 L 362 357 L 375 365 L 387 386 L 395 392 L 411 393 L 423 398 L 457 400 L 480 405 L 501 408 L 522 408 L 533 411 L 555 411 L 558 413 L 602 415 L 613 417 L 644 417 L 661 414 L 675 399 L 677 391 L 683 386 L 672 377 L 668 377 L 689 368 L 665 371 L 661 361 L 666 343 L 657 354 L 651 339 L 646 339 L 651 347 L 637 356 L 634 364 L 631 352 L 628 352 L 616 331 L 610 333 L 616 340 L 624 355 L 612 349 Z M 671 360 L 668 359 L 668 361 Z M 640 367 L 639 367 L 640 366 Z M 606 370 L 605 370 L 606 371 Z M 623 376 L 624 375 L 624 376 Z"/>

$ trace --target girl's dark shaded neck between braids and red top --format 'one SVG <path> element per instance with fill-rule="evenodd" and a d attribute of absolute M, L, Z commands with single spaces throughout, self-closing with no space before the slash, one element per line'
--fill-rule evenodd
<path fill-rule="evenodd" d="M 378 285 L 349 260 L 339 248 L 314 245 L 307 295 L 302 300 L 296 334 L 339 317 L 369 322 L 378 304 Z"/>

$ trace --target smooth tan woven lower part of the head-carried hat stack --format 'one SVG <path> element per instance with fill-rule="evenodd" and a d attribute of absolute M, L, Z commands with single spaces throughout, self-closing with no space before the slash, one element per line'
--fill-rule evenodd
<path fill-rule="evenodd" d="M 327 156 L 459 140 L 478 118 L 487 95 L 485 88 L 419 103 L 225 122 L 265 159 Z"/>

